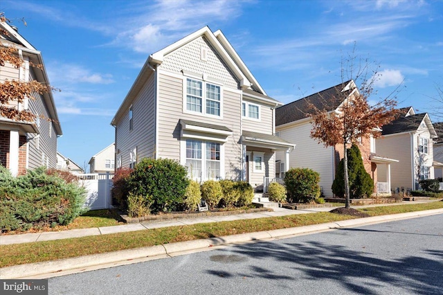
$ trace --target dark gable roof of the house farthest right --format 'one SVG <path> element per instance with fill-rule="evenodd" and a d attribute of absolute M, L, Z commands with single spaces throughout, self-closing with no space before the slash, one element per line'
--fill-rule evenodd
<path fill-rule="evenodd" d="M 435 129 L 431 123 L 431 119 L 429 118 L 427 113 L 409 115 L 410 108 L 403 108 L 400 109 L 400 111 L 404 111 L 405 109 L 408 110 L 406 111 L 406 116 L 405 113 L 402 112 L 404 116 L 401 116 L 396 120 L 393 120 L 391 123 L 387 125 L 383 125 L 381 127 L 381 129 L 383 129 L 381 135 L 415 132 L 417 131 L 420 124 L 424 122 L 427 125 L 429 132 L 431 133 L 431 138 L 437 138 L 437 133 L 435 132 Z"/>

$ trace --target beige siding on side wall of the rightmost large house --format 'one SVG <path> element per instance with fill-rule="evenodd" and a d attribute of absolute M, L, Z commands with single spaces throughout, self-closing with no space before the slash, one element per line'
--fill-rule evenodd
<path fill-rule="evenodd" d="M 412 152 L 410 134 L 398 134 L 393 136 L 381 136 L 375 140 L 377 155 L 396 159 L 398 163 L 390 166 L 391 190 L 404 187 L 413 188 Z M 379 165 L 378 179 L 386 179 L 386 166 Z"/>

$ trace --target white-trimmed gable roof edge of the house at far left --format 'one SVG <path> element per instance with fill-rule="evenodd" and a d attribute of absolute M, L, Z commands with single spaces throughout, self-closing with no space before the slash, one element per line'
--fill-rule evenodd
<path fill-rule="evenodd" d="M 29 59 L 34 64 L 42 64 L 42 69 L 34 67 L 35 78 L 38 82 L 44 84 L 50 84 L 48 74 L 46 73 L 46 66 L 44 66 L 42 53 L 37 51 L 34 46 L 32 46 L 24 37 L 22 37 L 17 30 L 12 28 L 8 23 L 0 21 L 0 26 L 8 32 L 8 35 L 0 35 L 1 46 L 15 46 L 19 51 L 22 52 L 24 56 L 28 56 Z M 54 129 L 58 136 L 63 134 L 62 126 L 60 125 L 60 120 L 58 119 L 57 109 L 55 108 L 55 102 L 53 98 L 53 93 L 45 92 L 42 94 L 48 112 L 53 120 Z"/>

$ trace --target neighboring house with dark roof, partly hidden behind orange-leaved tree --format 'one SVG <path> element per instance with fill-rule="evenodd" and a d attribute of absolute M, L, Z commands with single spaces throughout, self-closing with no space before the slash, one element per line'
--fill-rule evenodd
<path fill-rule="evenodd" d="M 333 197 L 331 187 L 338 162 L 343 158 L 343 145 L 325 147 L 323 143 L 318 143 L 317 139 L 311 138 L 313 126 L 311 117 L 307 115 L 309 104 L 335 114 L 343 103 L 343 98 L 352 99 L 358 91 L 354 81 L 349 80 L 278 107 L 275 110 L 275 130 L 278 135 L 284 140 L 297 143 L 296 149 L 289 154 L 277 152 L 277 161 L 282 166 L 280 171 L 284 171 L 286 168 L 310 168 L 320 174 L 320 186 L 323 195 Z M 386 175 L 386 177 L 380 178 L 383 182 L 378 181 L 377 167 L 389 167 L 396 160 L 377 155 L 375 141 L 372 136 L 361 138 L 358 144 L 365 170 L 374 180 L 374 193 L 390 193 L 390 177 Z M 283 177 L 283 173 L 277 176 Z"/>

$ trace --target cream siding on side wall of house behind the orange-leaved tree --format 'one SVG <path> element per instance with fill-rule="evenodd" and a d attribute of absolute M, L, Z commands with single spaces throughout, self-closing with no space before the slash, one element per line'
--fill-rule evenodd
<path fill-rule="evenodd" d="M 296 143 L 296 148 L 289 153 L 287 166 L 284 151 L 276 152 L 276 159 L 285 163 L 289 168 L 310 168 L 320 174 L 320 186 L 325 197 L 332 197 L 332 181 L 334 181 L 334 148 L 325 147 L 311 138 L 312 125 L 309 122 L 291 125 L 290 127 L 275 127 L 280 132 L 280 138 Z"/>

